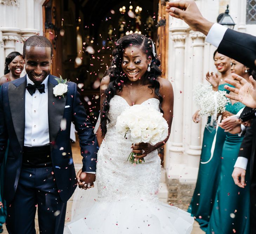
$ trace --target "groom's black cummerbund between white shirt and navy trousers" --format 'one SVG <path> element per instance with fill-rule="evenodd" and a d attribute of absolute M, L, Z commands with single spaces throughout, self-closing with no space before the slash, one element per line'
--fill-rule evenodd
<path fill-rule="evenodd" d="M 24 167 L 49 167 L 52 165 L 50 145 L 23 147 L 22 166 Z"/>

